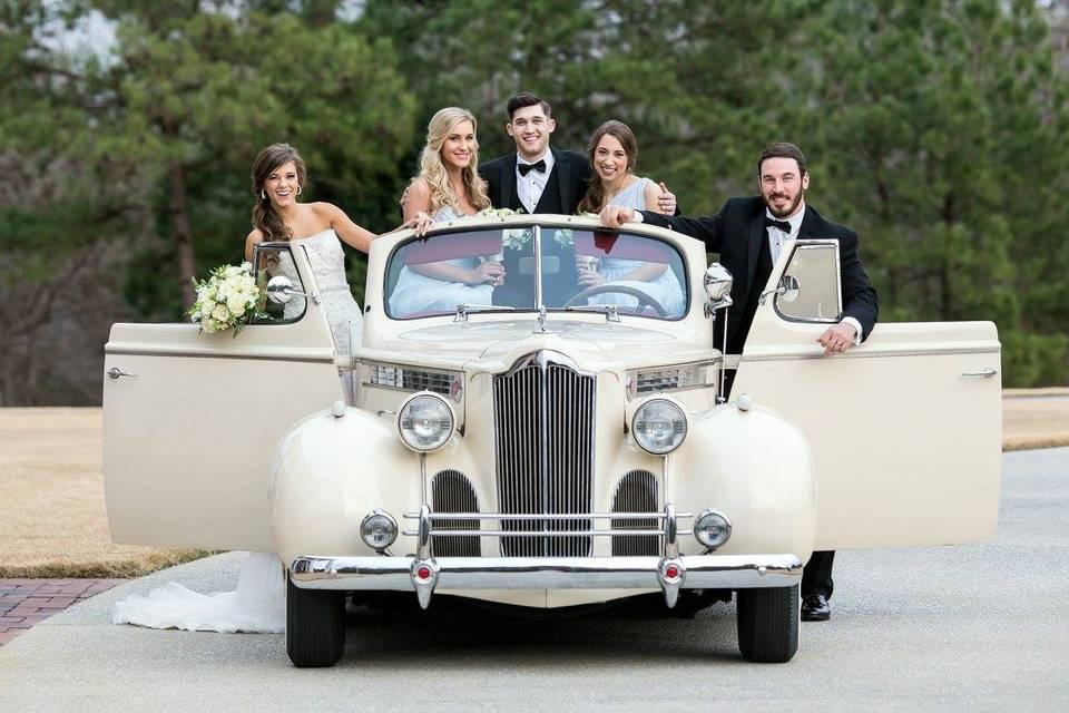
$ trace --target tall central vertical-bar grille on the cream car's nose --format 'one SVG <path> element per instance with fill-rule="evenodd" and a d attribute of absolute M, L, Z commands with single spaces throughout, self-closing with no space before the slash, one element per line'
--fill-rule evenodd
<path fill-rule="evenodd" d="M 498 509 L 509 515 L 591 511 L 596 380 L 540 351 L 493 380 Z M 589 530 L 590 520 L 503 521 L 502 529 Z M 501 538 L 507 557 L 589 556 L 590 537 Z"/>

